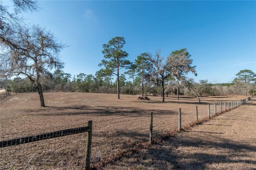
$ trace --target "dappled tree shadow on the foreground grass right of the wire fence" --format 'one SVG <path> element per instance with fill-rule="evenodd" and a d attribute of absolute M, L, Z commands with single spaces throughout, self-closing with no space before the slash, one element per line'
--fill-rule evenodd
<path fill-rule="evenodd" d="M 202 148 L 210 151 L 190 152 L 190 150 L 202 150 Z M 219 150 L 222 151 L 218 152 Z M 196 136 L 193 138 L 166 138 L 164 142 L 156 143 L 146 151 L 137 150 L 128 155 L 126 160 L 131 161 L 126 163 L 133 165 L 134 168 L 142 165 L 145 169 L 209 169 L 209 165 L 212 164 L 223 164 L 222 168 L 233 164 L 233 167 L 229 167 L 230 169 L 239 166 L 251 169 L 256 167 L 256 160 L 250 159 L 252 156 L 248 154 L 250 152 L 256 152 L 256 147 L 237 144 L 224 138 L 216 138 L 213 141 L 202 140 Z"/>

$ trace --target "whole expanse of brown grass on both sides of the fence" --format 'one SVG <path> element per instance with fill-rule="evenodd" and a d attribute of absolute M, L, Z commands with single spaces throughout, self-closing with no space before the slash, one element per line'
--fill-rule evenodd
<path fill-rule="evenodd" d="M 0 102 L 1 140 L 86 126 L 93 121 L 91 169 L 256 169 L 256 102 L 214 117 L 214 103 L 244 96 L 150 97 L 98 93 L 13 94 Z M 253 98 L 254 99 L 254 98 Z M 212 118 L 208 121 L 208 106 Z M 199 125 L 195 123 L 198 106 Z M 231 104 L 230 104 L 231 107 Z M 182 132 L 177 132 L 178 109 Z M 153 112 L 154 144 L 149 145 Z M 217 105 L 220 113 L 220 105 Z M 190 127 L 192 125 L 192 127 Z M 86 134 L 1 148 L 0 169 L 83 169 Z"/>

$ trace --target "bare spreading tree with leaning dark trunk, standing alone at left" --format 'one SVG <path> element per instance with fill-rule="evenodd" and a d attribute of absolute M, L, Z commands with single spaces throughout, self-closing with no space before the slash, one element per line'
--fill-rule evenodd
<path fill-rule="evenodd" d="M 64 63 L 60 61 L 59 53 L 66 45 L 57 42 L 51 32 L 39 26 L 19 26 L 11 38 L 16 47 L 8 45 L 4 49 L 7 52 L 4 53 L 6 60 L 1 68 L 1 77 L 28 77 L 36 85 L 41 106 L 44 107 L 41 77 L 54 68 L 63 68 Z"/>

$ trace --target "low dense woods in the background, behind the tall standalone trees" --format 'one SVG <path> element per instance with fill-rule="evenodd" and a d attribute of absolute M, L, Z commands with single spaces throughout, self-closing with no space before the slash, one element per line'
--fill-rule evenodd
<path fill-rule="evenodd" d="M 241 72 L 241 71 L 240 71 Z M 245 78 L 245 77 L 244 77 Z M 247 78 L 247 77 L 246 77 Z M 246 81 L 246 82 L 245 82 Z M 28 79 L 15 77 L 14 79 L 0 79 L 1 88 L 6 91 L 16 93 L 36 92 L 36 86 Z M 179 85 L 178 93 L 186 96 L 198 96 L 200 98 L 206 96 L 221 96 L 221 95 L 256 95 L 256 81 L 240 79 L 238 76 L 232 83 L 212 84 L 208 80 L 199 80 L 195 82 L 193 79 L 185 79 L 179 84 L 175 79 L 168 79 L 164 83 L 165 97 L 176 97 L 177 85 Z M 117 94 L 117 80 L 113 81 L 110 76 L 100 77 L 96 75 L 86 75 L 80 73 L 73 76 L 69 73 L 64 73 L 61 70 L 56 70 L 52 77 L 42 77 L 43 91 L 51 92 L 80 92 L 80 93 L 108 93 Z M 124 74 L 120 75 L 120 94 L 126 95 L 141 95 L 143 93 L 152 96 L 161 96 L 162 88 L 154 82 L 145 81 L 142 86 L 141 77 L 134 77 L 132 81 L 127 81 Z"/>

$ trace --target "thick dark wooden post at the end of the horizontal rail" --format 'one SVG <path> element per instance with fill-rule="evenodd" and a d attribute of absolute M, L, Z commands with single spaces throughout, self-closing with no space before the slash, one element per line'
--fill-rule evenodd
<path fill-rule="evenodd" d="M 85 151 L 85 170 L 90 170 L 91 148 L 92 148 L 92 121 L 88 121 L 90 131 L 87 132 L 86 151 Z"/>

